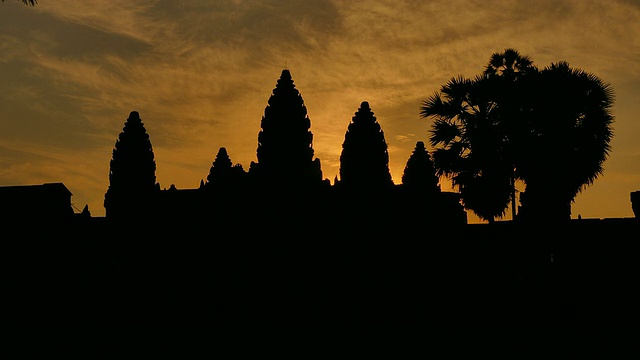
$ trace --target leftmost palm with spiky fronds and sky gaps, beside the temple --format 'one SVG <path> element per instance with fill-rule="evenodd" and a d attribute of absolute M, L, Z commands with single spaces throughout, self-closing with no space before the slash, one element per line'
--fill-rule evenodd
<path fill-rule="evenodd" d="M 511 199 L 511 159 L 495 91 L 498 78 L 454 77 L 423 102 L 421 116 L 434 120 L 429 142 L 438 176 L 450 178 L 465 209 L 493 222 Z"/>

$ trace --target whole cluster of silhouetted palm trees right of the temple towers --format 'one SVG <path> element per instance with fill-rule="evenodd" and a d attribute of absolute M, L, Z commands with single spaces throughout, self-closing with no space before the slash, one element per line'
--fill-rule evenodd
<path fill-rule="evenodd" d="M 437 172 L 460 189 L 465 208 L 491 222 L 509 200 L 515 210 L 521 180 L 528 190 L 522 218 L 566 219 L 576 194 L 602 173 L 612 96 L 593 74 L 564 62 L 540 71 L 507 49 L 483 74 L 452 78 L 423 102 L 421 115 L 434 120 Z"/>

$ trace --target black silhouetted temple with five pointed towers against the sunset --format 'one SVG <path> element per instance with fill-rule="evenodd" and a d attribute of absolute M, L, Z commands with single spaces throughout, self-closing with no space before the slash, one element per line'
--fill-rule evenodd
<path fill-rule="evenodd" d="M 386 221 L 419 216 L 440 224 L 466 224 L 457 194 L 442 193 L 437 186 L 424 143 L 417 143 L 403 184 L 394 184 L 384 132 L 368 102 L 360 104 L 347 126 L 340 179 L 333 185 L 323 179 L 320 159 L 314 158 L 310 128 L 302 96 L 285 69 L 264 110 L 257 162 L 248 171 L 234 165 L 222 147 L 198 189 L 172 186 L 161 190 L 155 182 L 149 135 L 138 112 L 132 111 L 113 150 L 104 201 L 106 217 L 116 221 L 255 220 L 273 225 L 300 217 L 340 223 L 345 216 Z M 419 185 L 423 181 L 424 186 Z M 252 213 L 253 209 L 261 210 Z"/>

